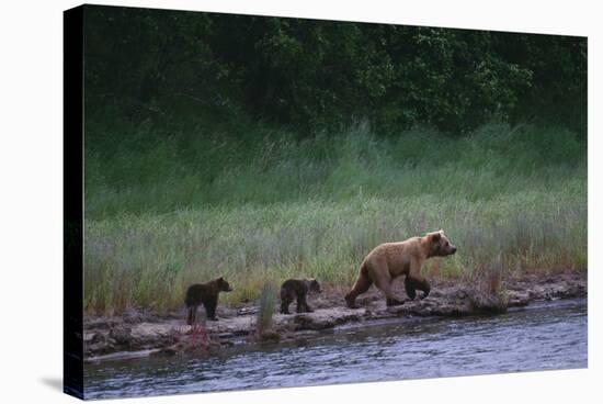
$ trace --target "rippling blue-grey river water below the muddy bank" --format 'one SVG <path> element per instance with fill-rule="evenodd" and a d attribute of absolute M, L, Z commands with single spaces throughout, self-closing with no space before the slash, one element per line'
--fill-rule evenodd
<path fill-rule="evenodd" d="M 587 301 L 498 316 L 352 324 L 307 340 L 234 347 L 209 358 L 87 364 L 87 399 L 439 378 L 588 366 Z"/>

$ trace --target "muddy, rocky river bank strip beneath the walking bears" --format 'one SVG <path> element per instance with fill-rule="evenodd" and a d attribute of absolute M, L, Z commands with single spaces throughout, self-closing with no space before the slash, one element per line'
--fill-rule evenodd
<path fill-rule="evenodd" d="M 382 294 L 372 288 L 357 299 L 360 308 L 345 307 L 344 290 L 328 289 L 309 298 L 314 313 L 274 314 L 270 330 L 258 333 L 258 307 L 218 307 L 218 322 L 206 322 L 202 332 L 191 333 L 184 322 L 184 310 L 164 316 L 128 310 L 120 317 L 84 318 L 84 355 L 88 361 L 147 355 L 204 355 L 224 346 L 275 343 L 309 338 L 321 329 L 351 322 L 405 316 L 464 316 L 500 313 L 508 307 L 527 305 L 531 301 L 569 299 L 587 295 L 587 273 L 525 276 L 505 280 L 503 292 L 492 295 L 482 288 L 459 282 L 433 281 L 428 299 L 405 301 L 387 307 Z M 400 288 L 399 296 L 406 296 Z M 292 305 L 292 308 L 295 304 Z"/>

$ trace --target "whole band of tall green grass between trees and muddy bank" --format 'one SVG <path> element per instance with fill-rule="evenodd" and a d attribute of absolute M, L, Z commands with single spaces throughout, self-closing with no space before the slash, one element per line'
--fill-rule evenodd
<path fill-rule="evenodd" d="M 458 252 L 431 277 L 587 267 L 585 142 L 561 128 L 121 135 L 86 153 L 89 311 L 171 310 L 220 274 L 229 303 L 266 280 L 350 284 L 377 244 L 439 228 Z"/>

